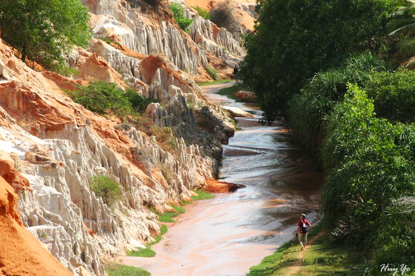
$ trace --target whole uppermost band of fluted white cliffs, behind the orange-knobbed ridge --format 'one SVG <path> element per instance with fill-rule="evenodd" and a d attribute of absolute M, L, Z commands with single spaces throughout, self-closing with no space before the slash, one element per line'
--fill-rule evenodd
<path fill-rule="evenodd" d="M 91 12 L 95 37 L 112 39 L 125 45 L 128 51 L 131 49 L 137 53 L 131 55 L 130 51 L 130 57 L 163 56 L 180 70 L 191 75 L 204 75 L 204 69 L 208 66 L 206 52 L 227 59 L 231 66 L 235 63 L 234 59 L 240 61 L 245 55 L 241 47 L 241 33 L 231 34 L 224 28 L 218 28 L 188 8 L 185 9 L 187 17 L 193 18 L 190 36 L 179 28 L 168 8 L 162 4 L 149 5 L 141 0 L 83 0 L 83 3 Z M 94 49 L 91 51 L 95 52 Z M 126 61 L 132 64 L 125 67 L 134 67 L 131 59 L 107 59 L 97 54 L 112 66 L 114 59 L 118 58 L 117 63 Z M 134 74 L 134 71 L 127 70 L 125 68 L 124 72 Z"/>

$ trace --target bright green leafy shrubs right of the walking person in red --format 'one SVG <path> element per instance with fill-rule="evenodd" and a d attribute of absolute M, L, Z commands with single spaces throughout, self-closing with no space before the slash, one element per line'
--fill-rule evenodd
<path fill-rule="evenodd" d="M 375 118 L 373 110 L 373 100 L 353 85 L 328 118 L 322 209 L 335 236 L 374 249 L 374 267 L 397 259 L 414 266 L 414 255 L 407 256 L 414 252 L 413 217 L 394 211 L 394 200 L 415 194 L 415 129 Z"/>

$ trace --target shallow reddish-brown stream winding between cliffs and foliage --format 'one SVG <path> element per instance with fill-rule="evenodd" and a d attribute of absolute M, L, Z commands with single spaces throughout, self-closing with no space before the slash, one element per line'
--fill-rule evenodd
<path fill-rule="evenodd" d="M 282 124 L 262 126 L 257 107 L 215 94 L 229 84 L 204 86 L 215 103 L 257 112 L 237 118 L 240 130 L 224 146 L 223 181 L 247 187 L 187 207 L 154 258 L 124 257 L 123 263 L 161 275 L 246 275 L 249 267 L 293 237 L 301 213 L 311 225 L 319 218 L 322 175 L 311 171 L 304 153 L 290 144 Z"/>

